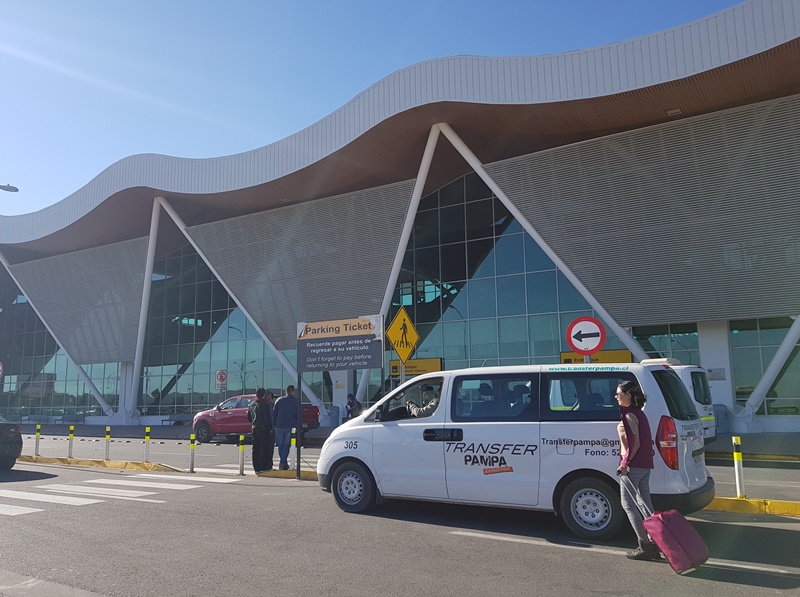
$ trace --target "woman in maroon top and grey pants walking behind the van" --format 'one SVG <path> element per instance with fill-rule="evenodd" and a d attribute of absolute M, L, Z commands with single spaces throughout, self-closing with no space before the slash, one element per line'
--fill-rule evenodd
<path fill-rule="evenodd" d="M 630 483 L 620 483 L 622 508 L 636 532 L 639 546 L 625 557 L 631 560 L 660 560 L 658 546 L 645 531 L 642 513 L 634 500 L 639 500 L 649 512 L 653 511 L 650 500 L 650 471 L 653 469 L 653 435 L 650 423 L 642 408 L 647 398 L 636 382 L 626 381 L 619 385 L 616 393 L 619 404 L 620 423 L 617 426 L 620 445 L 620 463 L 617 474 L 627 477 Z M 627 487 L 626 487 L 627 486 Z M 631 495 L 633 493 L 633 495 Z"/>

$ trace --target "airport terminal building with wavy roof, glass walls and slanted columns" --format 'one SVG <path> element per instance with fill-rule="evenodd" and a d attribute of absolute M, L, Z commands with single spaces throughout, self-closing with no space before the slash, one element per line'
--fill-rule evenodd
<path fill-rule="evenodd" d="M 415 64 L 271 145 L 0 216 L 0 262 L 7 418 L 174 423 L 295 383 L 298 322 L 402 306 L 446 369 L 561 362 L 593 316 L 596 359 L 699 364 L 732 428 L 797 431 L 800 5 Z M 392 359 L 305 398 L 336 424 Z"/>

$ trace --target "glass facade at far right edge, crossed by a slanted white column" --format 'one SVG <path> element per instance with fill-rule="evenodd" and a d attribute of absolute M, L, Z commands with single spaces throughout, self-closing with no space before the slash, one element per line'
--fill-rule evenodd
<path fill-rule="evenodd" d="M 792 325 L 790 317 L 744 319 L 728 324 L 731 366 L 736 402 L 744 405 L 755 389 L 778 346 Z M 800 345 L 792 350 L 767 399 L 758 409 L 763 415 L 800 414 Z"/>

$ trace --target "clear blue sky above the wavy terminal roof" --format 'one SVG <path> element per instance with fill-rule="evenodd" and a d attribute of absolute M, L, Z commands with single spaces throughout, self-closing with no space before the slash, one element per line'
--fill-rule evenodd
<path fill-rule="evenodd" d="M 589 48 L 735 0 L 0 0 L 0 214 L 138 153 L 230 155 L 459 54 Z"/>

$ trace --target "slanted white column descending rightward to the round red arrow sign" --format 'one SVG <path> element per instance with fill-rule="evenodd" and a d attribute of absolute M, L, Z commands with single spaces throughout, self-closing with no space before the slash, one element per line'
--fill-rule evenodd
<path fill-rule="evenodd" d="M 603 308 L 603 306 L 597 302 L 597 299 L 586 289 L 586 287 L 581 283 L 580 280 L 575 276 L 575 274 L 570 271 L 570 269 L 566 266 L 566 264 L 561 261 L 561 258 L 556 255 L 556 253 L 550 248 L 550 246 L 545 242 L 545 240 L 539 235 L 536 229 L 531 225 L 528 219 L 522 215 L 522 212 L 517 209 L 517 206 L 508 198 L 508 196 L 503 192 L 503 190 L 497 186 L 497 183 L 486 173 L 486 170 L 483 169 L 483 164 L 481 164 L 480 160 L 475 156 L 474 153 L 467 147 L 467 145 L 461 140 L 461 138 L 455 133 L 455 131 L 450 127 L 449 124 L 440 123 L 439 128 L 442 131 L 442 134 L 447 137 L 447 140 L 453 144 L 453 147 L 456 148 L 456 151 L 461 154 L 461 156 L 467 161 L 467 163 L 475 170 L 475 173 L 481 177 L 481 180 L 486 183 L 486 185 L 492 190 L 492 192 L 497 195 L 498 199 L 503 202 L 503 205 L 506 206 L 508 211 L 511 213 L 514 218 L 522 225 L 525 231 L 531 235 L 533 240 L 536 241 L 536 244 L 545 252 L 545 254 L 555 263 L 556 267 L 564 274 L 564 276 L 569 280 L 573 286 L 577 289 L 577 291 L 581 294 L 581 296 L 586 299 L 586 301 L 592 306 L 592 308 L 600 315 L 606 325 L 613 331 L 617 337 L 622 341 L 623 344 L 631 351 L 633 357 L 637 361 L 641 361 L 647 358 L 647 353 L 642 349 L 639 343 L 625 330 L 620 326 L 612 317 L 608 314 L 608 312 Z"/>

